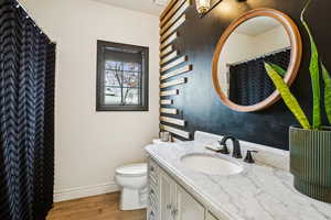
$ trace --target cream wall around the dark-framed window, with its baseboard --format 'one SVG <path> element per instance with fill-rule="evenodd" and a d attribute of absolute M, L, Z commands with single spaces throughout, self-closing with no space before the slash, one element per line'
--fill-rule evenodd
<path fill-rule="evenodd" d="M 55 199 L 115 190 L 119 165 L 158 135 L 158 18 L 89 0 L 21 0 L 57 42 Z M 148 112 L 96 112 L 97 40 L 149 46 Z"/>

